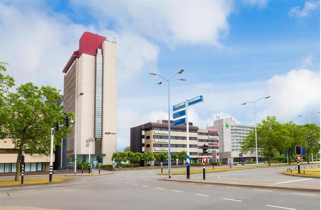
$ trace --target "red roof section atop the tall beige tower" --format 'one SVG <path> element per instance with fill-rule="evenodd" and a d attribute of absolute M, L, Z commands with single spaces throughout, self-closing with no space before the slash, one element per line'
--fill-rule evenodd
<path fill-rule="evenodd" d="M 75 58 L 79 58 L 82 55 L 82 53 L 95 56 L 97 54 L 97 49 L 102 48 L 102 43 L 104 41 L 106 41 L 105 36 L 100 36 L 100 35 L 85 31 L 79 39 L 78 51 L 74 51 L 74 53 L 69 58 L 62 72 L 66 73 L 66 71 L 69 68 L 69 65 L 72 64 Z"/>

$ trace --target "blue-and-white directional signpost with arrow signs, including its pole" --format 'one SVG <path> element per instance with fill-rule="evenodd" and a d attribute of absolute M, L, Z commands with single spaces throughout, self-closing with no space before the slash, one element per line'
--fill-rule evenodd
<path fill-rule="evenodd" d="M 203 96 L 198 96 L 195 98 L 192 98 L 190 100 L 186 100 L 185 102 L 182 102 L 180 104 L 177 104 L 175 106 L 173 106 L 173 111 L 177 111 L 179 109 L 183 109 L 186 108 L 185 110 L 173 113 L 173 119 L 178 118 L 178 117 L 182 117 L 185 116 L 184 118 L 178 119 L 173 121 L 173 126 L 177 126 L 177 125 L 181 125 L 181 124 L 185 124 L 186 123 L 186 139 L 187 139 L 187 152 L 186 152 L 186 174 L 187 174 L 187 179 L 189 179 L 190 173 L 189 173 L 189 167 L 190 167 L 190 159 L 189 159 L 189 123 L 188 123 L 188 114 L 187 114 L 187 110 L 188 110 L 188 106 L 197 104 L 202 102 Z"/>

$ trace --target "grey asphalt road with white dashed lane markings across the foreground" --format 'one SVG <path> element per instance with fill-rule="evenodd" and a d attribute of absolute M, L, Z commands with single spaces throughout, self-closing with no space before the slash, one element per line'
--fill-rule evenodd
<path fill-rule="evenodd" d="M 260 171 L 261 169 L 250 169 L 253 173 L 238 174 L 234 177 L 252 178 L 252 175 L 259 174 L 256 177 L 265 179 L 264 175 L 270 172 Z M 283 170 L 281 167 L 275 167 L 272 170 L 275 169 L 275 174 L 279 173 L 278 169 Z M 250 171 L 247 170 L 247 172 Z M 156 175 L 157 173 L 159 173 L 158 170 L 124 171 L 113 175 L 81 176 L 68 183 L 0 188 L 0 206 L 36 206 L 74 210 L 320 209 L 320 193 L 166 182 L 158 180 L 166 176 Z M 273 173 L 271 171 L 270 174 L 273 176 Z M 207 175 L 208 179 L 211 175 L 218 175 L 218 173 Z M 177 175 L 179 176 L 184 175 Z M 216 176 L 212 177 L 219 179 Z M 278 181 L 290 179 L 292 179 L 291 176 L 285 175 L 282 175 L 282 179 L 275 178 Z M 306 181 L 293 183 L 299 182 L 303 184 Z"/>

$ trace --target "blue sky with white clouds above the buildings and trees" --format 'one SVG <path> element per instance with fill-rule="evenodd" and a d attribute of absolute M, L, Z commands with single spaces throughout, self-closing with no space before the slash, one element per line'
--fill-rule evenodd
<path fill-rule="evenodd" d="M 0 57 L 16 84 L 58 89 L 84 31 L 116 37 L 118 150 L 131 127 L 166 119 L 167 87 L 150 72 L 185 69 L 187 81 L 171 84 L 171 105 L 203 95 L 191 109 L 200 128 L 216 115 L 254 124 L 253 106 L 240 103 L 266 95 L 257 121 L 304 124 L 297 114 L 320 110 L 319 1 L 4 1 L 1 29 Z M 320 115 L 311 121 L 319 125 Z"/>

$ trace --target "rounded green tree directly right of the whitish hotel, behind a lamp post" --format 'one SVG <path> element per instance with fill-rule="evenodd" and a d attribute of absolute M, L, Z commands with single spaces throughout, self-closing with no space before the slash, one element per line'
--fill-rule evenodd
<path fill-rule="evenodd" d="M 269 166 L 271 165 L 271 154 L 280 148 L 283 139 L 281 123 L 276 121 L 276 117 L 267 116 L 256 126 L 257 132 L 257 150 L 260 155 L 266 153 L 268 155 Z M 244 141 L 241 142 L 241 151 L 247 154 L 255 152 L 255 130 L 251 131 Z"/>

